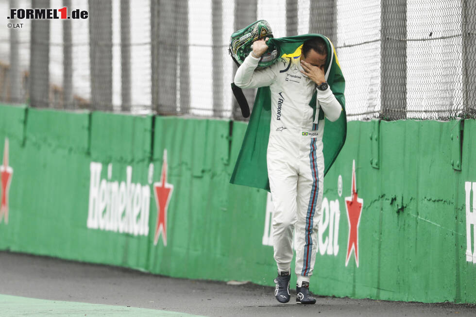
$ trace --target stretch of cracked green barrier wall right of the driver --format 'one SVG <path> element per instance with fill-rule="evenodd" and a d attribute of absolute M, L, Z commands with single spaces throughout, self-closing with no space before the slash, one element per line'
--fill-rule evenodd
<path fill-rule="evenodd" d="M 318 259 L 322 268 L 315 277 L 321 281 L 318 293 L 476 301 L 476 264 L 467 262 L 465 255 L 465 182 L 476 181 L 475 128 L 475 120 L 464 122 L 462 148 L 452 153 L 455 143 L 461 145 L 456 121 L 349 123 L 347 143 L 324 185 L 325 196 L 340 202 L 339 245 L 343 250 L 335 258 Z M 453 155 L 459 157 L 461 152 L 459 171 L 451 161 L 457 162 Z M 371 165 L 375 157 L 378 168 Z M 351 255 L 346 267 L 349 223 L 343 198 L 351 196 L 353 160 L 363 208 L 358 227 L 359 266 Z M 472 236 L 473 230 L 471 226 Z M 328 279 L 327 267 L 332 267 L 332 279 Z"/>

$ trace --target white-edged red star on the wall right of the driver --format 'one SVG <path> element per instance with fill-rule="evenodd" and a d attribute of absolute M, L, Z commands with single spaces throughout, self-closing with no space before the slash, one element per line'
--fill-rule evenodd
<path fill-rule="evenodd" d="M 350 254 L 354 249 L 356 264 L 358 267 L 358 225 L 360 215 L 362 214 L 362 205 L 364 200 L 357 197 L 356 186 L 356 161 L 352 163 L 352 191 L 351 196 L 345 198 L 345 209 L 347 210 L 347 219 L 349 221 L 349 243 L 347 245 L 347 257 L 345 266 L 349 263 Z"/>

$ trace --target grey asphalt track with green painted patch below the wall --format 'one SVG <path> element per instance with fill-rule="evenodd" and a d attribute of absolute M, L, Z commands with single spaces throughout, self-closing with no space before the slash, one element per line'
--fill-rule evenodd
<path fill-rule="evenodd" d="M 135 270 L 0 252 L 0 316 L 476 316 L 476 305 L 318 297 L 274 299 L 255 284 L 174 279 Z M 101 304 L 101 305 L 98 305 Z"/>

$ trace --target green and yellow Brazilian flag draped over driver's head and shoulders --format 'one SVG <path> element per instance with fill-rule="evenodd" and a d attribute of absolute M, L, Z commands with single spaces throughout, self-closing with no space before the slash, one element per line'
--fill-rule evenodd
<path fill-rule="evenodd" d="M 336 99 L 342 105 L 342 113 L 337 121 L 331 122 L 327 119 L 324 125 L 323 135 L 323 155 L 324 155 L 324 176 L 332 166 L 344 146 L 347 134 L 347 119 L 345 116 L 344 88 L 345 80 L 340 70 L 336 50 L 330 40 L 321 34 L 306 34 L 291 37 L 271 38 L 268 45 L 274 45 L 278 51 L 278 56 L 295 57 L 301 55 L 303 43 L 313 37 L 321 37 L 327 44 L 327 60 L 325 63 L 325 73 L 329 72 L 327 83 L 329 84 Z M 330 67 L 330 69 L 329 69 Z M 316 114 L 317 92 L 314 92 L 309 106 Z M 324 119 L 323 111 L 319 112 L 319 119 Z M 238 154 L 235 170 L 231 176 L 230 183 L 245 185 L 250 187 L 270 190 L 268 180 L 268 167 L 266 163 L 266 152 L 268 149 L 268 139 L 270 135 L 271 123 L 271 91 L 270 87 L 258 88 L 253 112 L 248 123 L 248 128 Z"/>

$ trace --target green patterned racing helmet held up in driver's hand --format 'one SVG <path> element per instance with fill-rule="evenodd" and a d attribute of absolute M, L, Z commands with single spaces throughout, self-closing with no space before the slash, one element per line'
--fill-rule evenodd
<path fill-rule="evenodd" d="M 266 37 L 273 37 L 271 26 L 265 20 L 258 20 L 246 28 L 231 34 L 230 49 L 228 51 L 235 63 L 240 66 L 243 64 L 246 56 L 253 50 L 251 48 L 253 42 Z M 270 45 L 268 50 L 261 55 L 257 69 L 271 66 L 277 59 L 278 52 L 274 46 Z"/>

